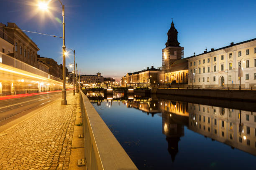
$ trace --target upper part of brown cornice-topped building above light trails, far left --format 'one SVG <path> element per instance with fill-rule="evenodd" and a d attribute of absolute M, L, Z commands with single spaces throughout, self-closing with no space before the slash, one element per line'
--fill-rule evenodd
<path fill-rule="evenodd" d="M 0 23 L 2 38 L 14 45 L 13 57 L 33 67 L 37 67 L 37 52 L 39 48 L 15 23 Z"/>

